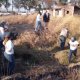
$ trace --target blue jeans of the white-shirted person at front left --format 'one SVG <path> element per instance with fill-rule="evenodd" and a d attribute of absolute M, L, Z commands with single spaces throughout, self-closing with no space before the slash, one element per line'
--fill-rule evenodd
<path fill-rule="evenodd" d="M 14 67 L 15 67 L 14 54 L 10 55 L 4 53 L 4 71 L 7 72 L 8 75 L 11 75 L 13 74 Z"/>

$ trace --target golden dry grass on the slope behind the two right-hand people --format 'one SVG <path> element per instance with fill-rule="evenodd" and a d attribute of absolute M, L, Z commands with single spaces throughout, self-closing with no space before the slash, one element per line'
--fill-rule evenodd
<path fill-rule="evenodd" d="M 53 18 L 49 23 L 49 29 L 59 32 L 62 27 L 67 26 L 71 35 L 79 35 L 80 31 L 80 16 L 66 16 L 63 18 Z"/>

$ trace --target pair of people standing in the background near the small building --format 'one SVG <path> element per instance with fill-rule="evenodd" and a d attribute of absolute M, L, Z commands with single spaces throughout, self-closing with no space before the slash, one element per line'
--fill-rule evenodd
<path fill-rule="evenodd" d="M 50 21 L 50 13 L 46 10 L 43 14 L 39 11 L 36 17 L 35 32 L 41 32 L 43 29 L 48 29 L 48 22 Z M 44 23 L 44 25 L 42 25 Z"/>

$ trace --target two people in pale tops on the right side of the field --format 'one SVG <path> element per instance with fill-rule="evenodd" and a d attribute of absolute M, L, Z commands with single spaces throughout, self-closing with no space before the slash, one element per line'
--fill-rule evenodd
<path fill-rule="evenodd" d="M 60 33 L 60 36 L 59 36 L 59 44 L 60 44 L 60 48 L 61 50 L 64 49 L 65 47 L 65 42 L 66 42 L 66 39 L 69 35 L 69 31 L 68 31 L 68 28 L 67 27 L 63 27 L 62 30 L 61 30 L 61 33 Z M 78 48 L 78 45 L 79 45 L 79 42 L 76 40 L 76 37 L 73 36 L 71 37 L 69 43 L 69 48 L 70 48 L 70 51 L 69 51 L 69 63 L 72 62 L 72 56 L 74 55 L 75 58 L 76 58 L 76 54 L 77 54 L 77 48 Z"/>

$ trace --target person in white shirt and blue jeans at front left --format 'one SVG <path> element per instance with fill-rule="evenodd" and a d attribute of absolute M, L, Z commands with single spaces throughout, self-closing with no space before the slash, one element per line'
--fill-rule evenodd
<path fill-rule="evenodd" d="M 6 34 L 4 37 L 3 45 L 4 45 L 4 53 L 3 53 L 3 62 L 4 64 L 7 62 L 7 65 L 4 67 L 7 69 L 8 75 L 11 75 L 13 73 L 14 67 L 15 67 L 15 61 L 14 61 L 14 45 L 10 39 L 10 34 Z"/>

